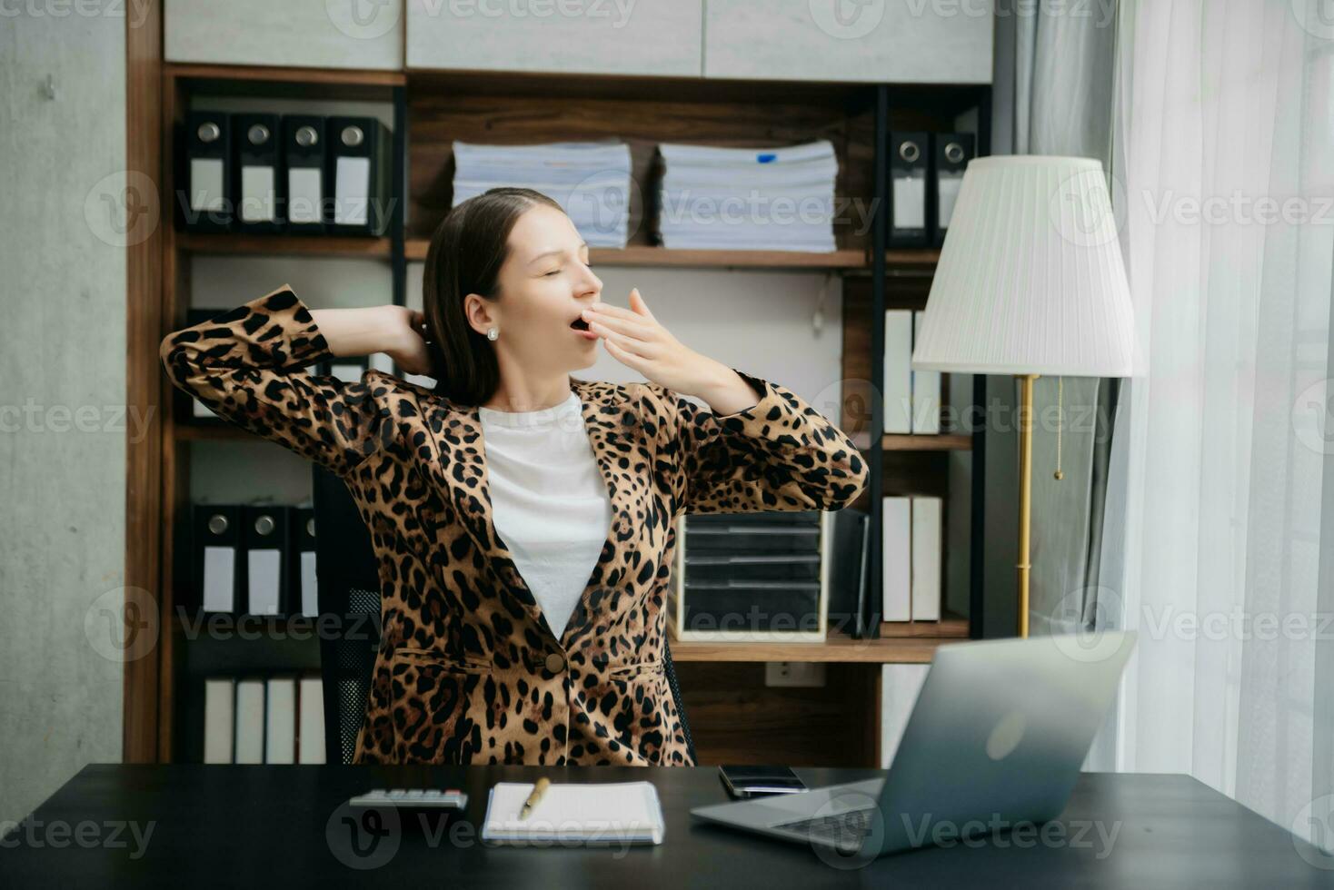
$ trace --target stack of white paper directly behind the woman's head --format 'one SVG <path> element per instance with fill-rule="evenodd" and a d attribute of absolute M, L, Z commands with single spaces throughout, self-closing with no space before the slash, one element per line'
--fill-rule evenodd
<path fill-rule="evenodd" d="M 500 185 L 555 200 L 591 248 L 623 248 L 630 225 L 630 147 L 618 141 L 454 143 L 454 204 Z"/>

